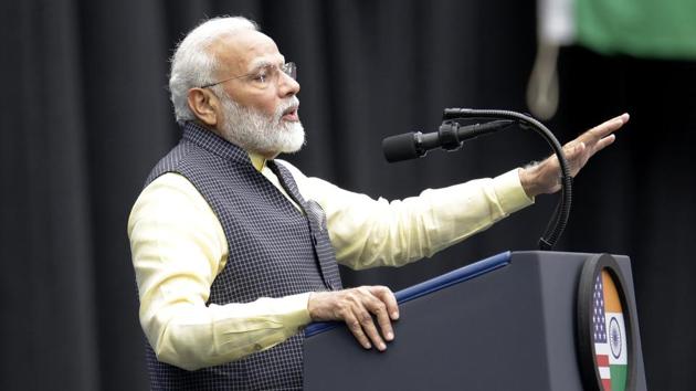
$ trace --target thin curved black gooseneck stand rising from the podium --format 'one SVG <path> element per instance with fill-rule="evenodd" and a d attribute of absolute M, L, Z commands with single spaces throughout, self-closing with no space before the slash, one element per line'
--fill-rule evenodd
<path fill-rule="evenodd" d="M 539 239 L 539 250 L 551 250 L 560 235 L 563 233 L 568 224 L 570 215 L 570 204 L 572 201 L 572 177 L 568 160 L 563 155 L 563 148 L 553 134 L 540 121 L 535 118 L 510 110 L 498 109 L 473 109 L 473 108 L 445 108 L 443 113 L 443 125 L 452 124 L 458 119 L 487 118 L 487 119 L 512 119 L 515 120 L 523 129 L 532 129 L 549 144 L 561 169 L 561 197 L 559 203 L 549 220 L 549 223 Z"/>

